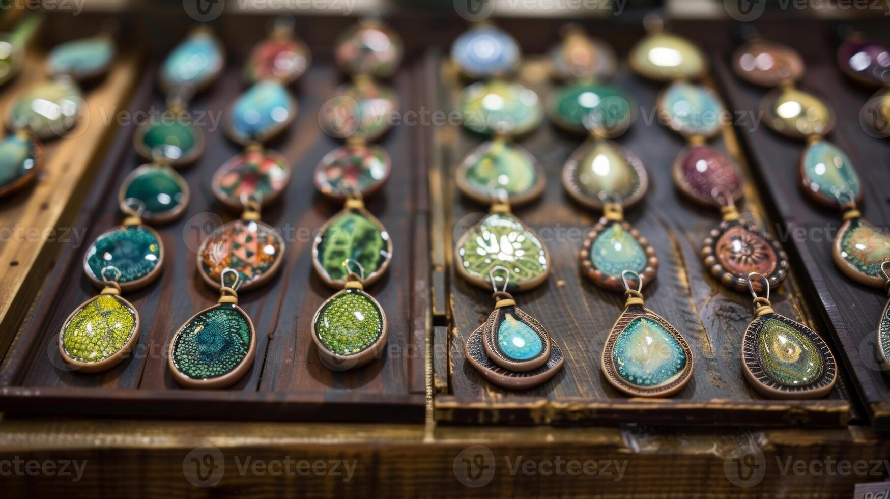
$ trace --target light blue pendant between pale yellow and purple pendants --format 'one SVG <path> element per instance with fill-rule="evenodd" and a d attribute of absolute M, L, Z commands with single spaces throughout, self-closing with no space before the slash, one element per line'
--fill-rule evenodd
<path fill-rule="evenodd" d="M 720 123 L 726 114 L 713 90 L 684 81 L 667 86 L 659 96 L 658 105 L 667 117 L 667 126 L 687 138 L 719 135 Z"/>

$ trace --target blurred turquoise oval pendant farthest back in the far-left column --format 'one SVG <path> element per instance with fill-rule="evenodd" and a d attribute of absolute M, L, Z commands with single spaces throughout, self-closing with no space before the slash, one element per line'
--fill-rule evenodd
<path fill-rule="evenodd" d="M 46 57 L 46 73 L 81 81 L 98 77 L 108 71 L 114 54 L 114 41 L 104 35 L 56 45 Z"/>

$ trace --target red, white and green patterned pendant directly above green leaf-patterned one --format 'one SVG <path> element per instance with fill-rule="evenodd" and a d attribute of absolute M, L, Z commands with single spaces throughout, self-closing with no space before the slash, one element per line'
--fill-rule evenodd
<path fill-rule="evenodd" d="M 335 200 L 377 192 L 390 173 L 390 158 L 378 145 L 347 143 L 325 154 L 315 167 L 315 187 Z"/>

